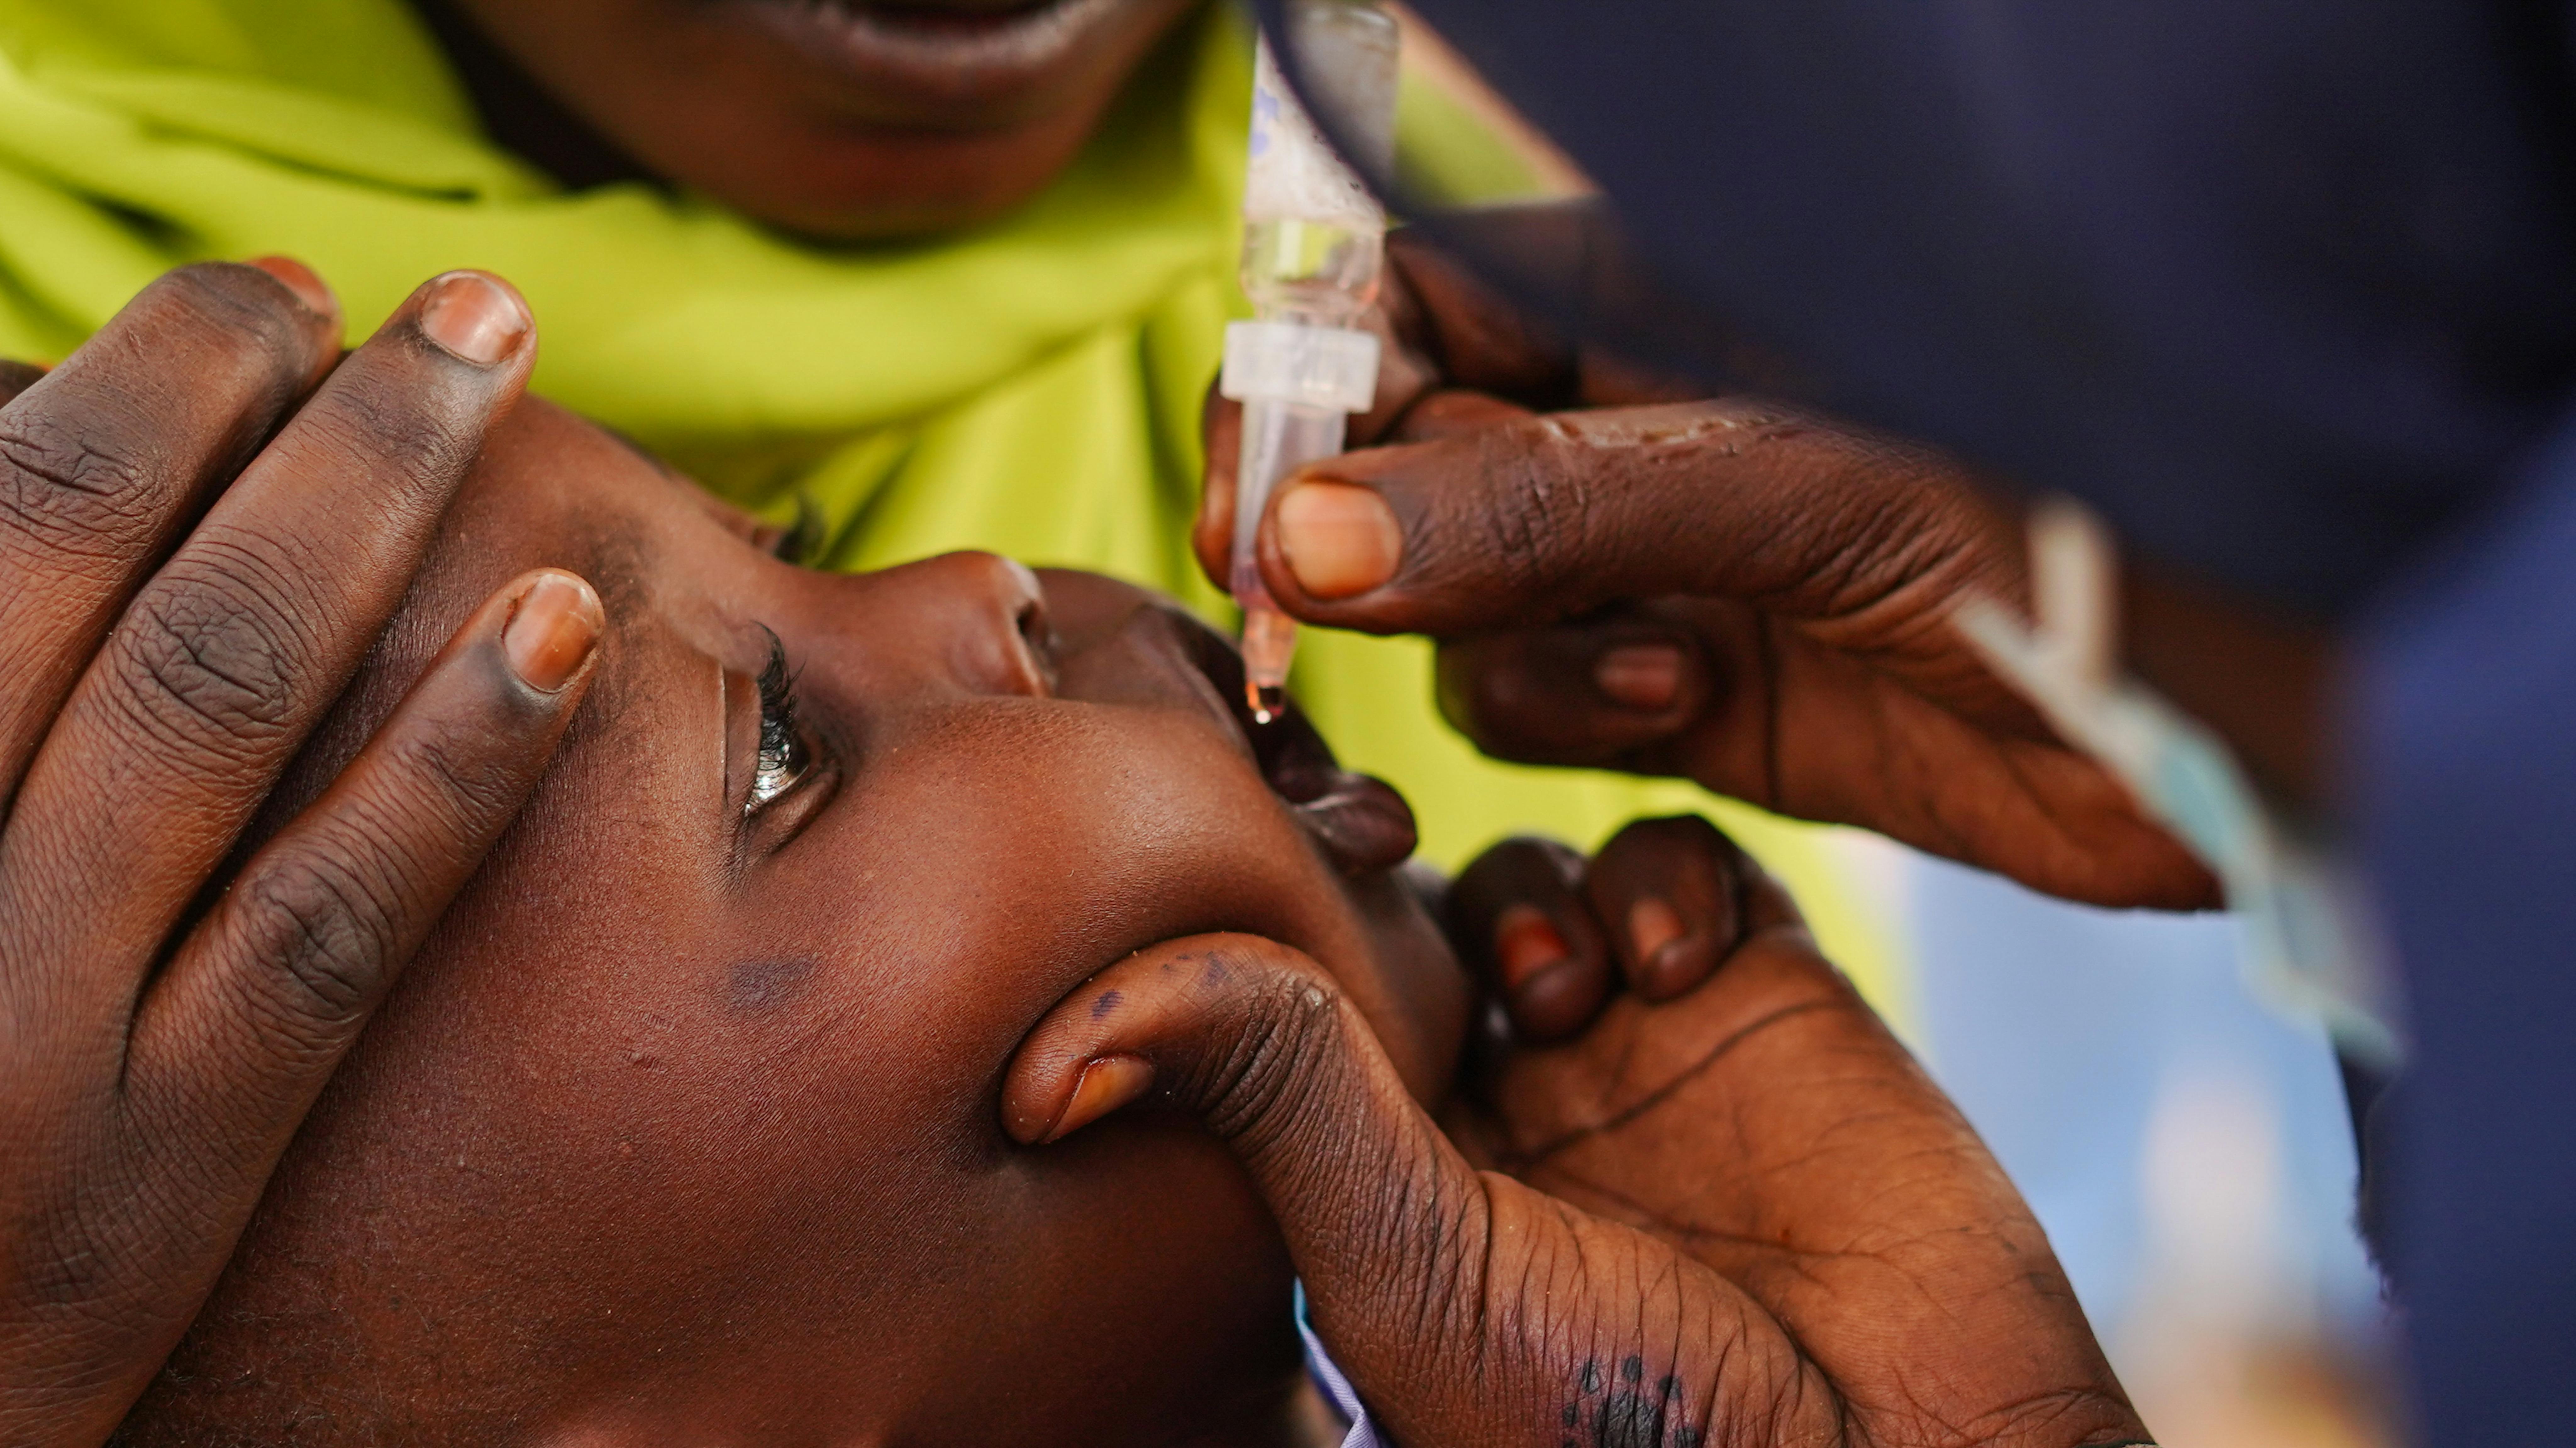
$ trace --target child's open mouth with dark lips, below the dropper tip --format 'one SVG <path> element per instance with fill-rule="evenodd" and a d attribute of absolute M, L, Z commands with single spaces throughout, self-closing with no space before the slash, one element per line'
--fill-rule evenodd
<path fill-rule="evenodd" d="M 1345 770 L 1293 698 L 1278 719 L 1257 724 L 1234 644 L 1180 608 L 1162 613 L 1172 621 L 1182 654 L 1213 688 L 1206 701 L 1211 714 L 1242 734 L 1270 791 L 1288 801 L 1342 873 L 1386 871 L 1414 853 L 1414 812 L 1394 786 Z"/>

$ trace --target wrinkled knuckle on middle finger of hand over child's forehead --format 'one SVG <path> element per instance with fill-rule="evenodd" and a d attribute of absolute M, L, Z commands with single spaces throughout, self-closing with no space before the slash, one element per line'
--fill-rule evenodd
<path fill-rule="evenodd" d="M 245 757 L 289 737 L 294 683 L 312 657 L 304 587 L 258 549 L 201 536 L 118 629 L 118 696 L 157 742 Z"/>

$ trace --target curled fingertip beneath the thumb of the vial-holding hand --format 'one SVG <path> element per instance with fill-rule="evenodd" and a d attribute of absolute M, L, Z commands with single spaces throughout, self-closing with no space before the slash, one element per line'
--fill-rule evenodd
<path fill-rule="evenodd" d="M 1479 750 L 1579 768 L 1641 768 L 1721 688 L 1700 629 L 1651 608 L 1443 639 L 1435 680 L 1440 714 Z"/>

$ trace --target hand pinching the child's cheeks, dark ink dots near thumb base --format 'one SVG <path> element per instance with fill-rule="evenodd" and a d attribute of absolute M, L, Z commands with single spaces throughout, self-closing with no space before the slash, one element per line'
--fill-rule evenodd
<path fill-rule="evenodd" d="M 2040 1226 L 1780 886 L 1705 824 L 1613 848 L 1597 933 L 1662 902 L 1669 940 L 1708 946 L 1700 979 L 1502 1046 L 1443 1123 L 1332 974 L 1249 935 L 1069 995 L 1012 1062 L 1005 1123 L 1059 1141 L 1139 1100 L 1206 1121 L 1334 1360 L 1417 1448 L 2143 1443 Z M 1489 886 L 1471 930 L 1512 904 Z"/>

